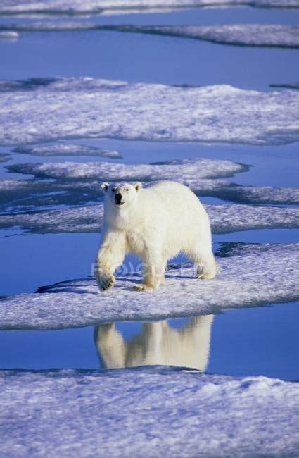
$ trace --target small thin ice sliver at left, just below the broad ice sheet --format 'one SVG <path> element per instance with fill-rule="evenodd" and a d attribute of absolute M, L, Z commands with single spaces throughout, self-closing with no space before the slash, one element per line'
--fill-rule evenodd
<path fill-rule="evenodd" d="M 85 144 L 45 144 L 34 147 L 18 147 L 14 153 L 32 154 L 33 156 L 102 156 L 121 158 L 118 151 L 91 147 Z"/>

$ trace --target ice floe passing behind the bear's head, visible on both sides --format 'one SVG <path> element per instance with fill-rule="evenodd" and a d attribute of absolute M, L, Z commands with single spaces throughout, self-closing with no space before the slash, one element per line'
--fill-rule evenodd
<path fill-rule="evenodd" d="M 246 204 L 299 204 L 298 188 L 241 186 L 224 180 L 179 180 L 199 197 L 217 197 Z M 147 185 L 144 182 L 144 185 Z M 101 180 L 0 180 L 0 212 L 20 213 L 54 206 L 98 203 Z"/>

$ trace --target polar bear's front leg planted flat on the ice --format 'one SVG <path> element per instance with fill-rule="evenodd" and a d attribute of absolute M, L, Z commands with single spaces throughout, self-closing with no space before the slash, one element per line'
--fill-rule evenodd
<path fill-rule="evenodd" d="M 144 254 L 144 281 L 134 286 L 135 291 L 155 290 L 164 282 L 165 262 L 162 258 L 162 250 L 148 248 Z"/>

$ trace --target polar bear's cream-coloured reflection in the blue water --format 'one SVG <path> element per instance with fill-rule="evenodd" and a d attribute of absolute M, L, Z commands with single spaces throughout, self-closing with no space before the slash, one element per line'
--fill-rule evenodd
<path fill-rule="evenodd" d="M 141 332 L 125 342 L 115 324 L 94 328 L 94 340 L 102 366 L 184 366 L 205 371 L 210 351 L 213 315 L 191 318 L 181 329 L 167 321 L 144 323 Z"/>

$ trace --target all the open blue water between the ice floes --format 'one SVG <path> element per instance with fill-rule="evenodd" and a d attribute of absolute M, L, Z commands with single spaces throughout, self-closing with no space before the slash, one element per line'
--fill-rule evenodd
<path fill-rule="evenodd" d="M 60 19 L 62 20 L 62 19 Z M 105 24 L 189 25 L 224 23 L 299 23 L 299 11 L 254 8 L 186 10 L 175 13 L 90 18 Z M 0 18 L 0 23 L 24 22 Z M 24 32 L 16 42 L 0 41 L 0 79 L 94 76 L 130 82 L 167 85 L 229 84 L 269 91 L 274 82 L 298 80 L 297 49 L 253 49 L 212 44 L 192 39 L 120 34 L 119 32 Z M 298 144 L 279 147 L 236 145 L 76 140 L 83 144 L 117 149 L 125 163 L 148 163 L 198 156 L 251 165 L 246 173 L 227 178 L 243 185 L 298 186 Z M 1 148 L 9 152 L 10 148 Z M 98 158 L 34 157 L 12 154 L 10 163 L 99 161 Z M 107 161 L 107 159 L 104 159 Z M 113 162 L 113 160 L 110 160 Z M 0 178 L 30 178 L 8 173 L 1 164 Z M 205 198 L 203 202 L 217 202 Z M 217 202 L 219 203 L 219 202 Z M 97 234 L 18 235 L 1 231 L 0 295 L 34 292 L 40 285 L 91 273 L 100 240 Z M 219 242 L 298 242 L 298 230 L 250 230 L 217 235 Z M 274 273 L 275 275 L 275 273 Z M 211 326 L 207 371 L 237 376 L 258 375 L 299 380 L 299 304 L 226 311 Z M 182 332 L 190 320 L 171 320 L 168 326 Z M 125 342 L 142 334 L 142 323 L 116 323 Z M 97 369 L 101 366 L 94 328 L 54 331 L 0 332 L 0 368 Z M 200 351 L 201 349 L 198 349 Z M 184 358 L 184 355 L 182 356 Z"/>

